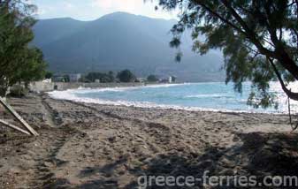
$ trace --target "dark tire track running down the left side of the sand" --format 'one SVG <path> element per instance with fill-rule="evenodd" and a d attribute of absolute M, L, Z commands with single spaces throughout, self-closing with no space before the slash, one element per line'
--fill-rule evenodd
<path fill-rule="evenodd" d="M 52 129 L 48 130 L 47 133 L 42 133 L 41 140 L 42 144 L 46 144 L 49 149 L 47 154 L 40 153 L 40 157 L 36 160 L 37 164 L 34 167 L 34 179 L 32 180 L 30 187 L 32 188 L 56 188 L 57 185 L 64 185 L 67 182 L 65 180 L 60 180 L 55 178 L 54 170 L 58 167 L 63 166 L 67 163 L 64 160 L 57 158 L 57 154 L 60 149 L 65 146 L 67 139 L 78 135 L 83 136 L 84 133 L 79 130 L 70 127 L 68 125 L 62 125 L 63 121 L 59 117 L 59 113 L 54 110 L 50 103 L 47 102 L 47 98 L 39 96 L 41 98 L 42 114 L 44 114 L 44 119 L 47 125 L 50 125 Z M 53 140 L 54 139 L 54 140 Z"/>

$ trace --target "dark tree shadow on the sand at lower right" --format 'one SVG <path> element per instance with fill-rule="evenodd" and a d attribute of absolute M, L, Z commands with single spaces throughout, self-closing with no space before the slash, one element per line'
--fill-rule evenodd
<path fill-rule="evenodd" d="M 102 174 L 106 178 L 111 179 L 92 180 L 76 188 L 131 189 L 137 188 L 136 178 L 142 175 L 194 176 L 195 178 L 202 178 L 205 170 L 210 171 L 209 176 L 255 175 L 260 182 L 267 175 L 298 176 L 298 134 L 254 132 L 241 133 L 238 136 L 241 138 L 241 141 L 233 147 L 207 147 L 202 154 L 183 153 L 183 155 L 179 155 L 179 153 L 176 153 L 157 155 L 149 161 L 135 165 L 133 169 L 126 170 L 135 177 L 135 180 L 128 185 L 118 185 L 117 176 L 114 175 L 114 170 L 118 166 L 127 163 L 127 158 L 122 158 L 103 167 L 88 167 L 81 171 L 80 177 Z M 237 185 L 230 185 L 229 187 L 209 186 L 205 188 L 238 187 Z M 158 187 L 157 185 L 151 185 L 147 188 L 202 188 L 202 183 L 196 183 L 196 186 L 189 187 Z"/>

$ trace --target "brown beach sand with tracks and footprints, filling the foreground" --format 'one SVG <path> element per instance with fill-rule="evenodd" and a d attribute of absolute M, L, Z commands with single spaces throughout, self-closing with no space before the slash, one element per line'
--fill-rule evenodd
<path fill-rule="evenodd" d="M 287 115 L 142 109 L 47 95 L 8 101 L 40 136 L 0 126 L 0 188 L 134 188 L 141 175 L 200 178 L 204 170 L 298 175 L 298 134 Z M 0 117 L 16 123 L 3 109 Z"/>

